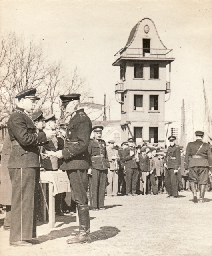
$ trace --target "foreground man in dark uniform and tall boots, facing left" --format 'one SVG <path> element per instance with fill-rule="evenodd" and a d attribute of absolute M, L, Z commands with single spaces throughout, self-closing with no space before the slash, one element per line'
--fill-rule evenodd
<path fill-rule="evenodd" d="M 87 170 L 91 161 L 88 145 L 92 123 L 84 110 L 80 109 L 80 96 L 80 94 L 60 95 L 62 106 L 66 113 L 71 115 L 71 119 L 66 130 L 64 149 L 57 151 L 56 155 L 63 159 L 60 169 L 67 171 L 80 222 L 80 234 L 68 239 L 68 244 L 90 242 Z"/>

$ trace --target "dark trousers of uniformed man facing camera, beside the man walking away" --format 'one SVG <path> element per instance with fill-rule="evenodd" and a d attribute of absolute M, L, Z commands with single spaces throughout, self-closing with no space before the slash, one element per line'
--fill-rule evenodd
<path fill-rule="evenodd" d="M 166 170 L 165 186 L 170 196 L 178 196 L 178 175 L 174 174 L 174 168 Z"/>

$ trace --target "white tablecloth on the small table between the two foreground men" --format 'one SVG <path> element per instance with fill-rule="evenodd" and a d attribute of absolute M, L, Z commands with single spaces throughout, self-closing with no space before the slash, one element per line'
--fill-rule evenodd
<path fill-rule="evenodd" d="M 66 172 L 62 171 L 46 171 L 40 173 L 40 179 L 42 182 L 53 183 L 53 196 L 63 192 L 70 192 L 70 182 Z"/>

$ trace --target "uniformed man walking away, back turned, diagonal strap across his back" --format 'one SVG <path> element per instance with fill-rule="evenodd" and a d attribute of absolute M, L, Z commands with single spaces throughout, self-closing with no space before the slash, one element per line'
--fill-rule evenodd
<path fill-rule="evenodd" d="M 189 181 L 197 203 L 196 186 L 200 186 L 200 202 L 204 203 L 205 188 L 208 182 L 208 167 L 212 170 L 212 153 L 210 146 L 202 141 L 204 132 L 196 131 L 196 141 L 189 142 L 186 148 L 184 169 L 189 170 Z"/>

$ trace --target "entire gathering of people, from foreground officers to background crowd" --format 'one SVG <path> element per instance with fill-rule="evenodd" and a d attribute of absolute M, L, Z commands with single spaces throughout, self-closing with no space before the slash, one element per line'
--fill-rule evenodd
<path fill-rule="evenodd" d="M 80 232 L 68 239 L 68 244 L 90 242 L 88 195 L 94 211 L 105 210 L 105 195 L 167 192 L 168 198 L 177 198 L 179 191 L 192 191 L 197 203 L 199 186 L 199 202 L 204 202 L 212 171 L 211 147 L 202 142 L 204 132 L 195 132 L 196 141 L 188 143 L 186 151 L 176 145 L 175 136 L 168 138 L 167 151 L 158 144 L 137 146 L 134 138 L 122 142 L 121 147 L 114 146 L 114 140 L 106 143 L 101 139 L 103 126 L 92 128 L 90 118 L 80 108 L 80 96 L 60 96 L 63 110 L 71 118 L 59 124 L 57 134 L 54 114 L 44 118 L 41 110 L 32 113 L 39 100 L 36 89 L 16 95 L 18 106 L 9 118 L 2 149 L 0 184 L 0 204 L 7 212 L 4 230 L 10 230 L 11 246 L 32 246 L 36 237 L 42 170 L 66 171 L 70 180 L 70 206 L 66 193 L 55 198 L 58 215 L 72 215 L 78 209 Z M 90 139 L 92 131 L 94 138 Z"/>

